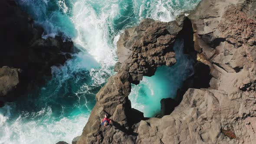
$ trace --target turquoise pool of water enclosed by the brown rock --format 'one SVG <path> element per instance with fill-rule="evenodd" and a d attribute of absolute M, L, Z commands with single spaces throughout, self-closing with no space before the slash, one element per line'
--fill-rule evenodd
<path fill-rule="evenodd" d="M 153 76 L 144 76 L 140 84 L 132 84 L 129 95 L 131 107 L 143 112 L 144 117 L 169 115 L 180 101 L 177 92 L 184 81 L 194 74 L 194 60 L 184 54 L 183 48 L 183 40 L 177 40 L 174 44 L 175 65 L 161 66 Z"/>

